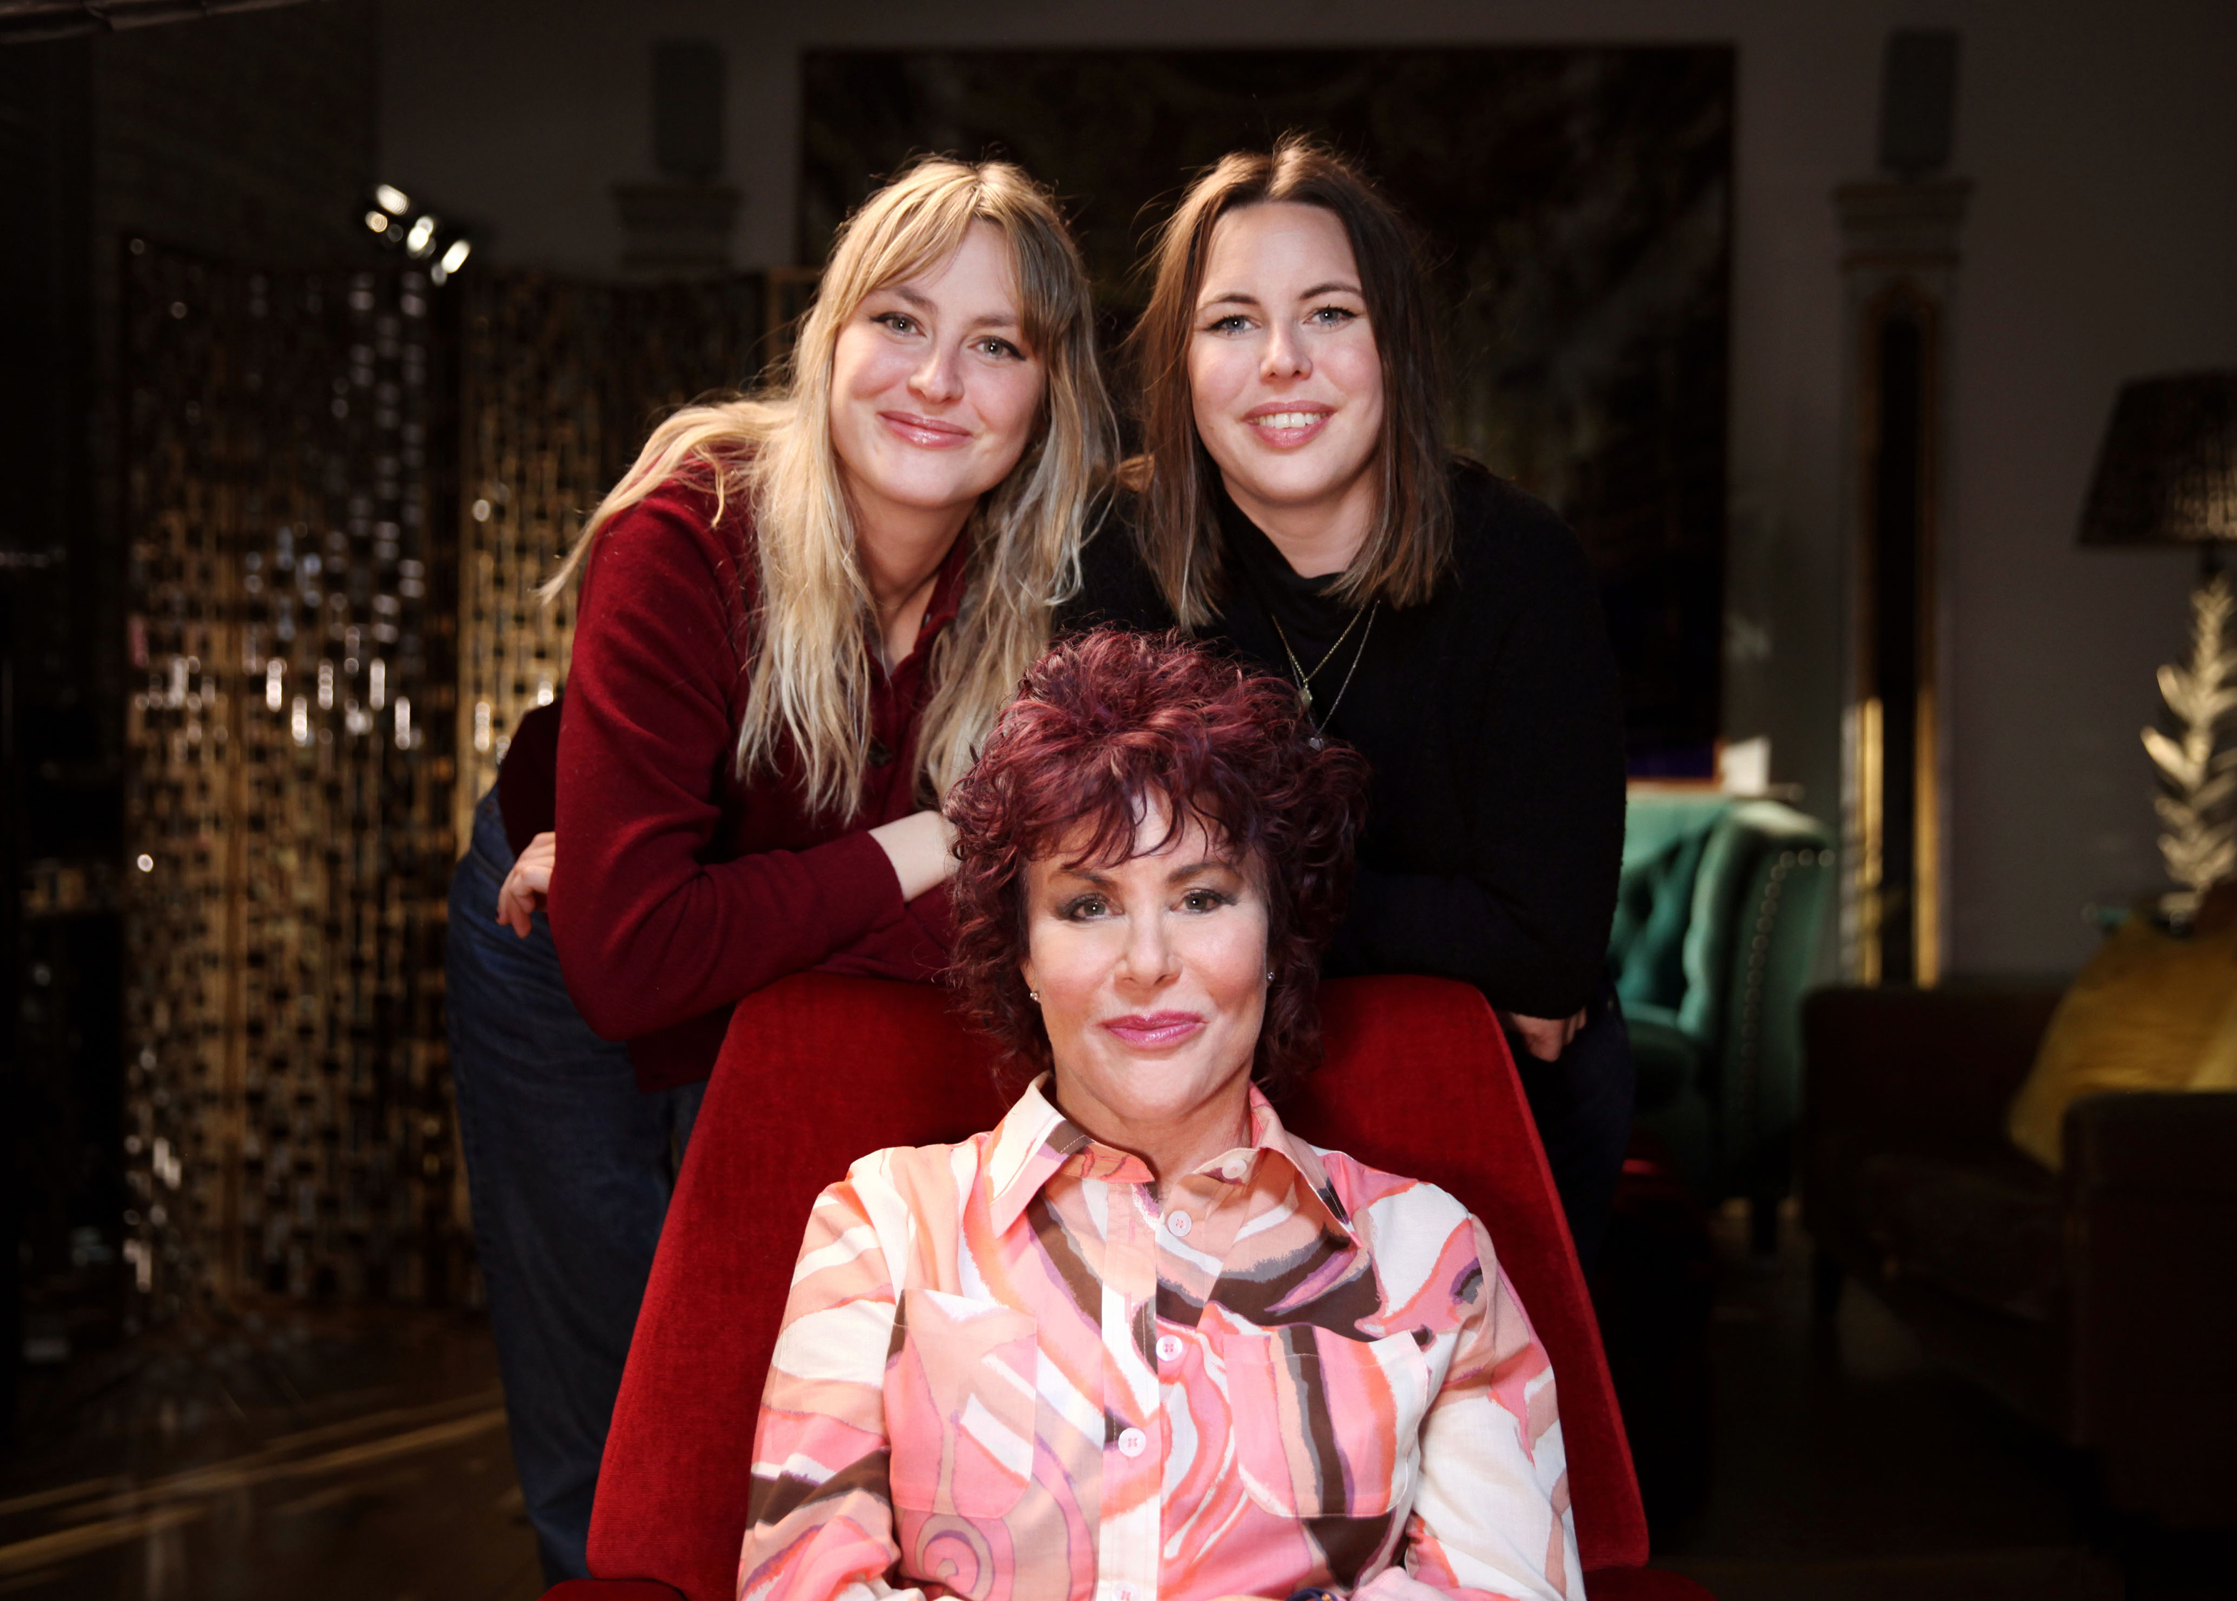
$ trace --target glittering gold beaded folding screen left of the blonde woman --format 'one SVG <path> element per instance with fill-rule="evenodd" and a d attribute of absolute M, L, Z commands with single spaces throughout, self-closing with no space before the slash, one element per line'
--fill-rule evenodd
<path fill-rule="evenodd" d="M 564 680 L 573 597 L 532 590 L 660 411 L 749 378 L 761 282 L 139 248 L 125 315 L 136 1313 L 447 1299 L 445 890 Z"/>

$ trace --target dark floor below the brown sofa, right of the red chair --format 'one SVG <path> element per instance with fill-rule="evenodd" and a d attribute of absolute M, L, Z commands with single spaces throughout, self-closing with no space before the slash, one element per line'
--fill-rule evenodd
<path fill-rule="evenodd" d="M 2094 1512 L 2083 1465 L 1919 1355 L 1863 1288 L 1810 1310 L 1792 1212 L 1776 1259 L 1745 1212 L 1714 1219 L 1714 1424 L 1698 1514 L 1658 1567 L 1720 1601 L 2210 1601 L 2237 1538 L 2179 1541 Z"/>

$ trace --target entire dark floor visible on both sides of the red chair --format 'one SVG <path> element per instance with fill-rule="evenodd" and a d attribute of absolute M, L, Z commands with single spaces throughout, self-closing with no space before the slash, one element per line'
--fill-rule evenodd
<path fill-rule="evenodd" d="M 1850 1288 L 1814 1328 L 1792 1219 L 1714 1219 L 1707 1489 L 1658 1565 L 1720 1601 L 2208 1601 L 2226 1543 L 2092 1518 L 2074 1465 Z M 532 1601 L 485 1328 L 273 1317 L 49 1368 L 0 1467 L 0 1597 Z"/>

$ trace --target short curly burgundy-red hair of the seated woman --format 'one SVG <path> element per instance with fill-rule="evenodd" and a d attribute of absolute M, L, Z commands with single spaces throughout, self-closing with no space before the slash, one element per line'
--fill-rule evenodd
<path fill-rule="evenodd" d="M 1320 950 L 1351 885 L 1367 760 L 1313 745 L 1297 691 L 1177 633 L 1098 628 L 1025 675 L 978 765 L 948 792 L 960 868 L 955 961 L 964 1011 L 1013 1062 L 1049 1067 L 1025 986 L 1027 865 L 1112 865 L 1145 814 L 1165 841 L 1190 818 L 1266 894 L 1266 991 L 1255 1073 L 1266 1084 L 1320 1060 Z M 1161 847 L 1161 845 L 1159 845 Z"/>

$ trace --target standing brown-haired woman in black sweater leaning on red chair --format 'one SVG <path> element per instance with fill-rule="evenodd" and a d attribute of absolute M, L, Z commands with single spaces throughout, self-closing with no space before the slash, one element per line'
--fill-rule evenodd
<path fill-rule="evenodd" d="M 1329 973 L 1434 973 L 1499 1008 L 1591 1263 L 1631 1134 L 1606 979 L 1624 839 L 1615 660 L 1561 519 L 1443 443 L 1418 237 L 1289 136 L 1199 177 L 1132 335 L 1132 530 L 1067 626 L 1179 624 L 1286 675 L 1374 767 Z"/>

